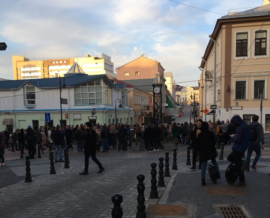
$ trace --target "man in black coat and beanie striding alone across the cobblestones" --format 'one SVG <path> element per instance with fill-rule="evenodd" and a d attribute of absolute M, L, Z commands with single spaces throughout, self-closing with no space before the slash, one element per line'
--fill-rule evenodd
<path fill-rule="evenodd" d="M 86 122 L 85 123 L 86 137 L 85 137 L 85 146 L 84 146 L 84 155 L 85 155 L 85 169 L 79 175 L 87 175 L 88 174 L 88 165 L 89 165 L 89 157 L 91 156 L 92 160 L 99 167 L 99 171 L 97 173 L 102 173 L 105 168 L 96 158 L 96 140 L 97 133 L 93 128 L 93 123 Z"/>

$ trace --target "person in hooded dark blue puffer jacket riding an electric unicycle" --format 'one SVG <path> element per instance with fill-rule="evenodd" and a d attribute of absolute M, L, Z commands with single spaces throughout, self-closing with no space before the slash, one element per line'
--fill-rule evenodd
<path fill-rule="evenodd" d="M 246 186 L 244 171 L 247 166 L 242 167 L 242 155 L 248 148 L 251 128 L 238 115 L 232 117 L 231 124 L 235 126 L 236 134 L 230 135 L 232 139 L 232 152 L 227 157 L 227 160 L 235 163 L 237 174 L 239 176 L 239 182 L 235 183 L 234 186 Z"/>

